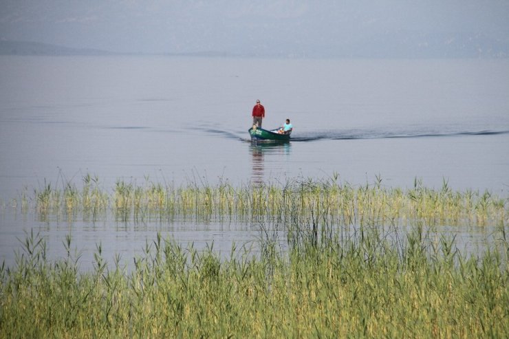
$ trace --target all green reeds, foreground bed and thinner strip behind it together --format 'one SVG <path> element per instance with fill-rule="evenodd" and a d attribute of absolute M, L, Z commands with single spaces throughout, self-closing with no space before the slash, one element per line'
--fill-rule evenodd
<path fill-rule="evenodd" d="M 63 259 L 27 234 L 0 267 L 0 338 L 374 337 L 503 338 L 509 333 L 508 201 L 479 192 L 409 190 L 336 179 L 234 187 L 135 185 L 110 192 L 46 185 L 16 206 L 50 217 L 162 222 L 232 220 L 261 226 L 257 251 L 230 256 L 156 239 L 133 258 L 80 270 L 72 236 Z M 495 226 L 477 254 L 429 229 Z M 277 226 L 274 228 L 274 226 Z M 389 227 L 387 227 L 389 226 Z M 401 227 L 402 226 L 402 227 Z M 277 230 L 284 230 L 284 250 Z M 353 232 L 345 232 L 353 230 Z"/>

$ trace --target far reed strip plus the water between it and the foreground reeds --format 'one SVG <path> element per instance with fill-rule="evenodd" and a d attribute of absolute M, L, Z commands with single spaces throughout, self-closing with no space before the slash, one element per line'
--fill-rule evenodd
<path fill-rule="evenodd" d="M 507 197 L 487 190 L 457 191 L 446 182 L 440 189 L 427 188 L 417 179 L 406 189 L 382 186 L 380 177 L 353 186 L 338 175 L 239 186 L 118 180 L 104 189 L 98 177 L 86 175 L 82 186 L 47 184 L 3 206 L 2 222 L 12 233 L 6 232 L 1 248 L 12 265 L 25 235 L 35 230 L 45 238 L 49 257 L 58 259 L 67 253 L 61 244 L 72 238 L 79 267 L 89 270 L 98 246 L 108 261 L 118 257 L 132 267 L 133 257 L 147 250 L 158 232 L 199 250 L 213 245 L 221 255 L 232 245 L 257 252 L 266 239 L 284 251 L 303 239 L 349 237 L 371 226 L 391 239 L 419 227 L 435 241 L 454 239 L 455 248 L 470 256 L 492 248 L 505 234 L 508 204 Z"/>

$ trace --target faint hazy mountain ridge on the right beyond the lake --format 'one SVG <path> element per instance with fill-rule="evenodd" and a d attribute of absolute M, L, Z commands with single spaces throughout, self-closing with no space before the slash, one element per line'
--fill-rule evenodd
<path fill-rule="evenodd" d="M 273 39 L 243 55 L 330 58 L 508 58 L 509 38 L 473 32 L 396 30 L 357 36 L 349 41 Z"/>

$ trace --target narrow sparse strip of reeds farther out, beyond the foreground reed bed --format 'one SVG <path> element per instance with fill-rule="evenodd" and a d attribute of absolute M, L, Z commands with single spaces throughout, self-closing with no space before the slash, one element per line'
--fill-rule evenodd
<path fill-rule="evenodd" d="M 188 183 L 163 185 L 147 180 L 143 184 L 118 180 L 105 190 L 97 178 L 87 175 L 83 188 L 45 184 L 27 199 L 42 218 L 47 215 L 83 214 L 96 218 L 114 212 L 120 220 L 193 217 L 279 223 L 314 219 L 338 226 L 393 225 L 424 222 L 428 225 L 484 226 L 506 224 L 508 199 L 489 192 L 455 191 L 444 185 L 426 188 L 417 180 L 413 188 L 387 188 L 377 178 L 374 184 L 352 186 L 329 180 L 290 179 L 285 184 L 233 186 Z M 17 204 L 16 204 L 17 205 Z M 25 208 L 26 210 L 26 208 Z M 319 212 L 318 212 L 319 211 Z M 299 221 L 300 222 L 300 221 Z"/>

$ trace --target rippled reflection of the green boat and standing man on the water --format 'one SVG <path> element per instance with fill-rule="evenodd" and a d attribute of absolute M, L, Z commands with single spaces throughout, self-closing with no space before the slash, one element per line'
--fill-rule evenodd
<path fill-rule="evenodd" d="M 289 155 L 291 151 L 290 142 L 251 142 L 250 153 L 251 153 L 251 182 L 253 184 L 262 184 L 265 177 L 265 162 L 266 157 L 274 156 L 274 159 L 269 161 L 274 164 L 277 163 L 277 159 L 283 155 Z M 270 168 L 272 171 L 273 166 Z"/>

